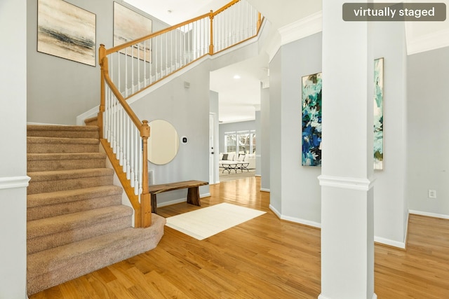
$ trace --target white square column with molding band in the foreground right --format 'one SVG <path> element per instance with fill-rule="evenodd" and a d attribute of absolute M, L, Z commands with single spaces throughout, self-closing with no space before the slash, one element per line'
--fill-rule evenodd
<path fill-rule="evenodd" d="M 353 1 L 366 3 L 366 1 Z M 368 22 L 323 0 L 320 299 L 374 293 L 373 53 Z"/>

